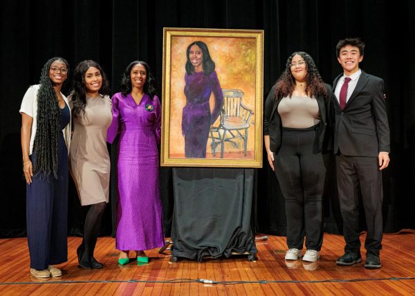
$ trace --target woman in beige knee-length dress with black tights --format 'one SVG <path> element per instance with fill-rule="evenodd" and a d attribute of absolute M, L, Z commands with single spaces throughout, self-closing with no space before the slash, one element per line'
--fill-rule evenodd
<path fill-rule="evenodd" d="M 77 248 L 80 267 L 102 268 L 93 257 L 101 218 L 109 201 L 110 160 L 107 129 L 111 124 L 109 83 L 101 66 L 91 60 L 75 68 L 70 104 L 73 137 L 69 162 L 82 205 L 91 205 L 86 214 L 84 238 Z"/>

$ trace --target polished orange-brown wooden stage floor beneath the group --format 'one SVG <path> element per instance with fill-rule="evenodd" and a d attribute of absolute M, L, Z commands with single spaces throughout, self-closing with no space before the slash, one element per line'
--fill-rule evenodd
<path fill-rule="evenodd" d="M 384 235 L 378 270 L 367 270 L 363 263 L 336 266 L 344 240 L 333 234 L 324 234 L 317 263 L 285 261 L 285 237 L 268 236 L 267 241 L 257 241 L 255 262 L 235 255 L 170 263 L 168 250 L 159 254 L 155 249 L 142 266 L 136 261 L 119 266 L 114 239 L 101 237 L 95 252 L 105 264 L 101 270 L 77 267 L 80 241 L 68 237 L 68 262 L 58 266 L 62 277 L 41 280 L 30 275 L 26 238 L 0 239 L 0 295 L 415 295 L 415 230 Z M 362 257 L 364 261 L 364 250 Z"/>

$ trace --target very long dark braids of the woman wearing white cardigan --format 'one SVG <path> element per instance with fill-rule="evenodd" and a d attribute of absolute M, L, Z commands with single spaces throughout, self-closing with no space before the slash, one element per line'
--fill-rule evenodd
<path fill-rule="evenodd" d="M 37 93 L 37 127 L 33 150 L 35 160 L 33 174 L 48 178 L 53 174 L 57 178 L 57 155 L 59 134 L 62 132 L 58 98 L 49 77 L 50 64 L 55 61 L 63 62 L 69 68 L 68 62 L 62 57 L 53 57 L 42 68 L 40 87 Z"/>

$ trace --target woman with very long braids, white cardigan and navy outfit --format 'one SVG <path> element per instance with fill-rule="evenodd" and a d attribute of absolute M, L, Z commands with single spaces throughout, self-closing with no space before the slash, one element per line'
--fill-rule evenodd
<path fill-rule="evenodd" d="M 67 75 L 65 59 L 49 59 L 20 108 L 30 273 L 35 277 L 60 277 L 53 265 L 68 260 L 71 110 L 61 93 Z"/>

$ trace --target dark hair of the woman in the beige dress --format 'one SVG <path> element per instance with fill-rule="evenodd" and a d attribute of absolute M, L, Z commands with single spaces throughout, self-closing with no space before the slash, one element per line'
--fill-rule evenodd
<path fill-rule="evenodd" d="M 109 89 L 109 82 L 107 75 L 105 75 L 102 67 L 97 62 L 86 59 L 85 61 L 77 64 L 75 72 L 73 73 L 72 92 L 71 98 L 73 102 L 72 115 L 74 118 L 82 115 L 86 106 L 86 86 L 85 86 L 85 73 L 89 68 L 97 68 L 102 76 L 102 86 L 100 89 L 101 95 L 109 95 L 111 90 Z"/>

